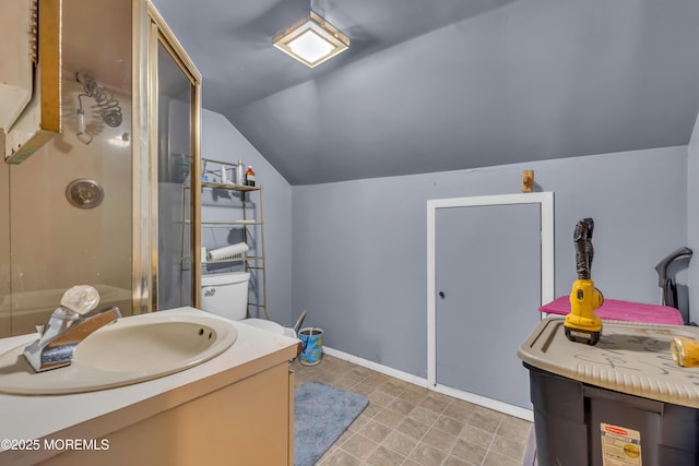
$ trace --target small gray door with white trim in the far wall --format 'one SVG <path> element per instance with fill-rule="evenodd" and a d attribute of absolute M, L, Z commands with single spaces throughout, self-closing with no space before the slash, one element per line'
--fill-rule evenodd
<path fill-rule="evenodd" d="M 548 234 L 553 247 L 553 196 L 549 213 L 542 204 L 546 196 L 530 195 L 430 201 L 430 383 L 520 417 L 530 416 L 531 403 L 517 348 L 538 323 L 538 307 L 553 296 L 549 271 L 543 274 L 548 244 L 542 248 Z M 550 231 L 544 234 L 547 215 Z"/>

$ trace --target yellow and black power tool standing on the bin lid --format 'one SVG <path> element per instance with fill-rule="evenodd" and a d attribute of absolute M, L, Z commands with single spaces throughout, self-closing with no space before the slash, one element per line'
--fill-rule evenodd
<path fill-rule="evenodd" d="M 592 268 L 592 231 L 594 222 L 592 218 L 583 218 L 576 225 L 573 242 L 576 243 L 576 267 L 578 279 L 573 282 L 570 290 L 570 313 L 566 315 L 564 330 L 566 337 L 571 342 L 596 345 L 602 335 L 602 319 L 594 310 L 602 306 L 604 297 L 595 288 L 590 278 Z"/>

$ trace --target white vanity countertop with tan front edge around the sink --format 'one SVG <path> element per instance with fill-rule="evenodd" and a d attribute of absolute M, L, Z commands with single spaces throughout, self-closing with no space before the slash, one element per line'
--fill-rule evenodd
<path fill-rule="evenodd" d="M 178 308 L 159 312 L 196 315 L 202 311 Z M 206 315 L 222 319 L 209 313 Z M 298 355 L 299 342 L 295 338 L 241 322 L 228 322 L 238 332 L 236 343 L 220 356 L 181 372 L 133 385 L 70 395 L 22 396 L 0 393 L 3 418 L 0 422 L 0 463 L 15 458 L 26 461 L 28 455 L 40 459 L 56 453 L 42 452 L 44 445 L 36 442 L 37 439 L 59 439 L 61 445 L 67 439 L 96 441 L 99 444 L 102 435 L 284 363 Z M 36 337 L 36 334 L 28 334 L 0 338 L 0 354 L 29 344 Z M 27 442 L 31 445 L 28 449 L 20 447 Z M 39 447 L 33 449 L 36 445 Z"/>

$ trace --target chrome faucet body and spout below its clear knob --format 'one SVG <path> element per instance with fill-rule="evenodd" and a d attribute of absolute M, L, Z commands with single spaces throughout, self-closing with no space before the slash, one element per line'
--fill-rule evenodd
<path fill-rule="evenodd" d="M 91 333 L 121 318 L 119 308 L 109 307 L 80 313 L 58 307 L 47 325 L 37 325 L 39 339 L 24 348 L 24 357 L 36 372 L 70 366 L 78 345 Z"/>

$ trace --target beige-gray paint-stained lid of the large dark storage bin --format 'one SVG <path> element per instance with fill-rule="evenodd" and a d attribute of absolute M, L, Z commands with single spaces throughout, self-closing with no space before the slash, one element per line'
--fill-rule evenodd
<path fill-rule="evenodd" d="M 564 334 L 564 318 L 544 319 L 517 356 L 530 366 L 583 383 L 699 408 L 699 368 L 677 366 L 675 336 L 699 340 L 699 327 L 605 321 L 595 346 Z"/>

